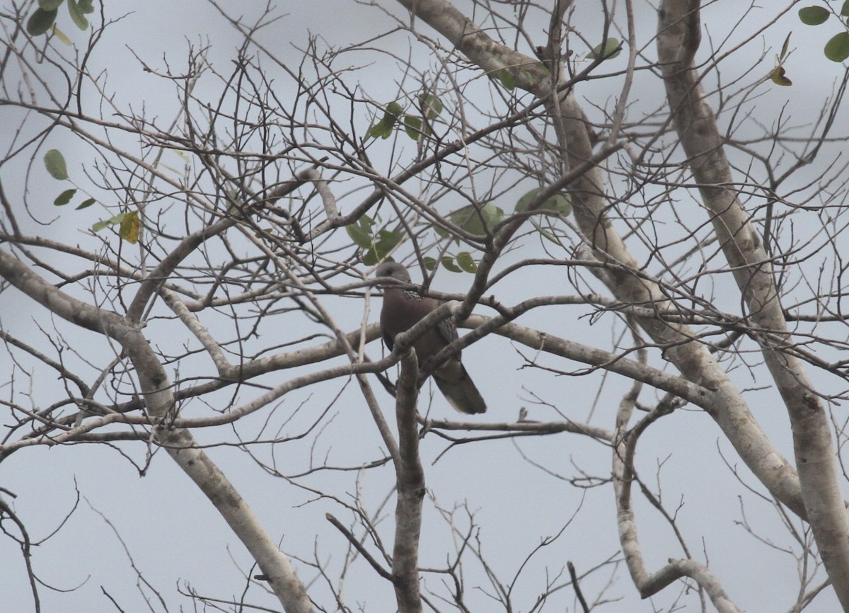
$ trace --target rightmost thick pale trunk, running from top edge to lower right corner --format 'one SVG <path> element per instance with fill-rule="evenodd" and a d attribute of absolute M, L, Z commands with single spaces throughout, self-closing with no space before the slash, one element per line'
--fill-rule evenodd
<path fill-rule="evenodd" d="M 740 204 L 716 118 L 694 69 L 701 39 L 699 10 L 697 0 L 661 3 L 657 41 L 666 94 L 702 203 L 711 213 L 719 245 L 749 307 L 751 322 L 759 330 L 755 339 L 790 415 L 805 516 L 835 592 L 849 610 L 849 516 L 829 417 L 812 391 L 801 360 L 785 351 L 793 339 L 784 320 L 773 267 L 749 213 Z"/>

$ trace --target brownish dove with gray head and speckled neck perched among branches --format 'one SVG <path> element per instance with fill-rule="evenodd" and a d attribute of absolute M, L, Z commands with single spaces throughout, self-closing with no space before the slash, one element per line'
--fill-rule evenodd
<path fill-rule="evenodd" d="M 377 267 L 374 274 L 377 277 L 391 277 L 402 283 L 410 283 L 410 273 L 398 262 L 384 262 Z M 419 295 L 413 290 L 403 290 L 395 285 L 385 286 L 383 308 L 380 311 L 380 329 L 389 350 L 392 351 L 396 335 L 412 328 L 440 304 L 435 298 Z M 413 343 L 419 366 L 426 367 L 430 358 L 457 338 L 457 327 L 450 318 L 436 323 Z M 486 402 L 460 362 L 459 351 L 436 368 L 433 379 L 447 401 L 460 413 L 486 411 Z"/>

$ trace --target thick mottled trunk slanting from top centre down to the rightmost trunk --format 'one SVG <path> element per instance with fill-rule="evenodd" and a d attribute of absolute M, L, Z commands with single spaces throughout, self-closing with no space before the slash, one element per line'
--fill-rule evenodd
<path fill-rule="evenodd" d="M 534 60 L 492 41 L 470 20 L 460 14 L 446 0 L 399 0 L 419 18 L 439 31 L 469 59 L 487 72 L 521 66 L 516 70 L 517 86 L 535 93 L 547 104 L 549 113 L 559 132 L 558 140 L 565 144 L 563 166 L 565 172 L 583 168 L 593 159 L 588 127 L 581 107 L 575 98 L 551 87 L 548 72 L 535 65 Z M 610 291 L 620 301 L 653 306 L 660 311 L 672 307 L 657 284 L 629 273 L 640 266 L 616 233 L 607 217 L 607 200 L 604 181 L 599 166 L 590 166 L 570 184 L 570 194 L 576 221 L 588 237 L 588 244 L 601 262 L 614 262 L 605 277 Z M 481 268 L 487 266 L 487 256 Z M 479 271 L 479 276 L 481 271 Z M 470 309 L 469 309 L 470 311 Z M 714 391 L 716 402 L 707 408 L 728 440 L 753 470 L 758 479 L 776 498 L 786 504 L 796 515 L 806 515 L 801 489 L 789 463 L 769 441 L 757 425 L 739 390 L 711 356 L 707 347 L 695 340 L 696 335 L 681 324 L 666 323 L 657 318 L 638 318 L 640 326 L 656 343 L 665 347 L 664 357 L 673 363 L 684 377 Z M 767 463 L 763 459 L 769 458 Z M 766 466 L 769 470 L 763 470 Z"/>

